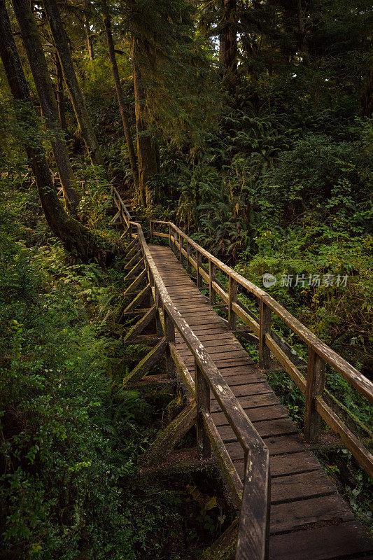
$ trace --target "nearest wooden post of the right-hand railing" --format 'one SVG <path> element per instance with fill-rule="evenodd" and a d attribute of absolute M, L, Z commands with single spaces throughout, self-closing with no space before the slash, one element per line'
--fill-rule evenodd
<path fill-rule="evenodd" d="M 304 438 L 307 443 L 318 443 L 323 419 L 316 411 L 315 397 L 323 396 L 325 385 L 325 362 L 309 348 L 307 362 L 306 408 L 304 411 Z"/>

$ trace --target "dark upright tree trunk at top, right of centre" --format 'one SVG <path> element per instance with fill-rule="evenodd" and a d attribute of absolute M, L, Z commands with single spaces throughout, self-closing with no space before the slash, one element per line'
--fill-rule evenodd
<path fill-rule="evenodd" d="M 237 0 L 223 0 L 219 55 L 225 76 L 234 80 L 237 75 Z"/>

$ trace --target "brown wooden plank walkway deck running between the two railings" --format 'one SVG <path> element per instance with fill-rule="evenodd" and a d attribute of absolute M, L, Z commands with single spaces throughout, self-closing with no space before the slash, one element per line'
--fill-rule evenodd
<path fill-rule="evenodd" d="M 373 559 L 367 537 L 261 370 L 199 292 L 169 247 L 149 245 L 172 302 L 188 322 L 269 449 L 272 475 L 269 557 L 273 560 Z M 194 374 L 194 358 L 176 332 L 176 347 Z M 211 416 L 237 472 L 241 445 L 216 400 Z M 255 560 L 255 559 L 253 559 Z"/>

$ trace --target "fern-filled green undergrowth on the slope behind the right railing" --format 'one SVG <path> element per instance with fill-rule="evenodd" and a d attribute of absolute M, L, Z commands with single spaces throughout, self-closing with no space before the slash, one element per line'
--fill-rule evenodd
<path fill-rule="evenodd" d="M 243 112 L 192 162 L 164 164 L 158 215 L 258 286 L 273 274 L 269 293 L 372 375 L 372 122 Z"/>

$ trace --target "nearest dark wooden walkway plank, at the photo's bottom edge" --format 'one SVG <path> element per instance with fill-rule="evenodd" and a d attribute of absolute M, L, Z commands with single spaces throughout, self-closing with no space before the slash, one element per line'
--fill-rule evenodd
<path fill-rule="evenodd" d="M 269 558 L 276 560 L 335 560 L 372 552 L 372 542 L 355 521 L 274 535 Z"/>

